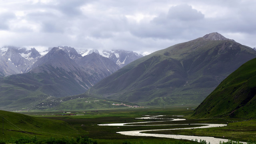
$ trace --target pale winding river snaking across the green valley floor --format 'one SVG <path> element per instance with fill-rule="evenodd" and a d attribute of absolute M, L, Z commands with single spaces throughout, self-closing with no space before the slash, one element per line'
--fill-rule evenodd
<path fill-rule="evenodd" d="M 166 122 L 166 121 L 176 121 L 176 120 L 186 120 L 183 118 L 158 118 L 162 115 L 158 116 L 147 116 L 138 119 L 162 119 L 164 121 L 156 121 L 156 122 Z M 116 123 L 116 124 L 98 124 L 99 126 L 170 126 L 170 125 L 188 125 L 188 124 L 162 124 L 162 125 L 129 125 L 129 124 L 139 124 L 139 123 L 150 123 L 150 122 L 130 122 L 130 123 Z M 198 124 L 190 124 L 190 125 L 198 125 Z M 213 127 L 221 127 L 226 126 L 226 124 L 200 124 L 204 126 L 192 127 L 192 128 L 213 128 Z M 192 128 L 171 128 L 171 129 L 160 129 L 160 130 L 181 130 L 181 129 L 192 129 Z M 134 130 L 134 131 L 124 131 L 124 132 L 116 132 L 119 134 L 124 134 L 127 136 L 153 136 L 153 137 L 161 137 L 161 138 L 175 138 L 175 139 L 183 139 L 183 140 L 205 140 L 210 144 L 219 144 L 220 141 L 228 142 L 227 139 L 224 138 L 214 138 L 209 136 L 186 136 L 186 135 L 176 135 L 176 134 L 146 134 L 142 132 L 148 131 L 158 131 L 158 130 Z M 246 144 L 246 142 L 242 142 Z"/>

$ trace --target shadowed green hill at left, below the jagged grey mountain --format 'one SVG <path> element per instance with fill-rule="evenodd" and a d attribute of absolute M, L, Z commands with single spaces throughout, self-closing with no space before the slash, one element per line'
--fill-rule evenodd
<path fill-rule="evenodd" d="M 0 79 L 0 109 L 27 110 L 53 97 L 85 92 L 75 80 L 62 70 L 52 70 L 60 77 L 47 73 L 25 73 Z"/>

